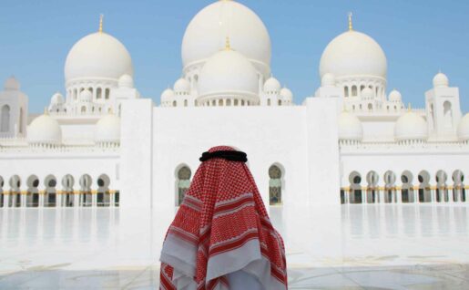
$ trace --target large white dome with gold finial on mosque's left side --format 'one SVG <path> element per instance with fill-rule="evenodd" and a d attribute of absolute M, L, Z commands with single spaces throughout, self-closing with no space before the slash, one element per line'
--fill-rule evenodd
<path fill-rule="evenodd" d="M 80 78 L 117 81 L 125 74 L 134 74 L 130 54 L 120 41 L 104 32 L 81 38 L 66 57 L 66 82 Z"/>

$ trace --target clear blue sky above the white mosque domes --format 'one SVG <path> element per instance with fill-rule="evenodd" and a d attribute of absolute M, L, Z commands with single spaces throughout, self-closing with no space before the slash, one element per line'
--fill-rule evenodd
<path fill-rule="evenodd" d="M 180 44 L 192 16 L 212 0 L 2 0 L 0 81 L 15 75 L 29 96 L 30 111 L 41 112 L 50 96 L 64 92 L 68 50 L 105 31 L 129 50 L 135 82 L 144 97 L 160 92 L 181 74 Z M 423 93 L 441 68 L 459 87 L 469 110 L 469 1 L 424 0 L 240 0 L 264 21 L 272 41 L 272 71 L 293 90 L 295 102 L 320 84 L 324 47 L 347 28 L 372 36 L 388 58 L 388 92 L 398 88 L 404 102 L 423 107 Z"/>

